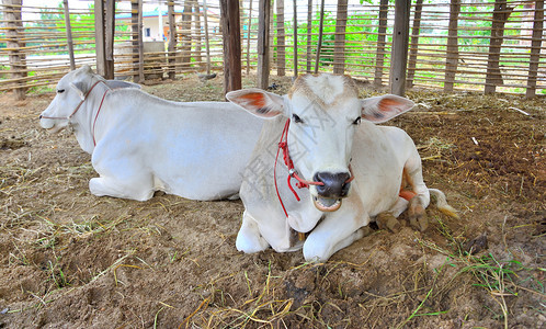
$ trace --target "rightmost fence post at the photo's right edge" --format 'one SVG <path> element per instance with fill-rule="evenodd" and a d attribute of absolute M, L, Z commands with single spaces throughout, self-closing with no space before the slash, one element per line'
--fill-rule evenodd
<path fill-rule="evenodd" d="M 528 59 L 528 78 L 525 98 L 535 97 L 536 77 L 538 75 L 538 61 L 541 60 L 541 46 L 544 33 L 544 0 L 535 1 L 535 16 L 533 22 L 533 34 L 531 42 L 531 56 Z"/>

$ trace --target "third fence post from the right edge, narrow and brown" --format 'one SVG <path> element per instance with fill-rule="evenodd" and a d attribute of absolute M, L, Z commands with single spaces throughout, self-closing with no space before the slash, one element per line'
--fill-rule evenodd
<path fill-rule="evenodd" d="M 458 15 L 460 13 L 460 0 L 451 0 L 450 4 L 450 31 L 447 32 L 447 54 L 445 58 L 445 82 L 444 91 L 452 92 L 455 82 L 458 64 Z"/>

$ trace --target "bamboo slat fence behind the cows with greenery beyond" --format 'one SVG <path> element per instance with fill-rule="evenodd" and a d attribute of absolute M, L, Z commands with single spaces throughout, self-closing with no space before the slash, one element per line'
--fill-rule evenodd
<path fill-rule="evenodd" d="M 0 92 L 24 97 L 50 90 L 71 63 L 95 66 L 93 1 L 79 2 L 89 5 L 67 8 L 64 3 L 73 2 L 59 0 L 55 8 L 29 7 L 2 0 Z M 147 27 L 147 8 L 158 7 L 158 0 L 138 2 L 115 1 L 115 78 L 141 82 L 223 70 L 219 0 L 159 1 L 166 12 L 162 26 L 175 30 L 175 37 L 167 36 L 164 47 L 153 52 L 143 49 L 146 37 L 138 35 Z M 239 2 L 247 75 L 264 60 L 258 46 L 259 3 Z M 274 0 L 270 8 L 266 54 L 272 72 L 333 71 L 376 86 L 389 83 L 394 1 Z M 544 0 L 413 0 L 410 10 L 408 87 L 546 94 Z"/>

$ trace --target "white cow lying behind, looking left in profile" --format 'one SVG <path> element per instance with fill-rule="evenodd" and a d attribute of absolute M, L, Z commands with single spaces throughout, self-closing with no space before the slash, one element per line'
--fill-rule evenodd
<path fill-rule="evenodd" d="M 166 101 L 105 81 L 84 66 L 62 77 L 41 115 L 72 126 L 100 178 L 94 195 L 145 201 L 160 190 L 193 200 L 236 197 L 262 120 L 229 102 Z M 129 88 L 124 88 L 129 87 Z"/>

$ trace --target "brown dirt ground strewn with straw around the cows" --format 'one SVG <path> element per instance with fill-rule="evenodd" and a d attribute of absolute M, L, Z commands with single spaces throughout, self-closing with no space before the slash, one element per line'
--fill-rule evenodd
<path fill-rule="evenodd" d="M 221 100 L 221 80 L 144 89 Z M 419 105 L 389 124 L 460 218 L 431 205 L 424 232 L 402 215 L 311 264 L 238 252 L 240 201 L 91 195 L 90 156 L 38 126 L 53 93 L 0 94 L 0 328 L 544 328 L 546 99 L 408 97 Z"/>

